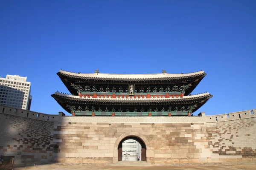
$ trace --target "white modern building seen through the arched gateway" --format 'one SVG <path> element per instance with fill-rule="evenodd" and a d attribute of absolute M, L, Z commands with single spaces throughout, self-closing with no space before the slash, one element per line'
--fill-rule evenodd
<path fill-rule="evenodd" d="M 140 161 L 141 145 L 133 139 L 122 143 L 122 161 Z"/>

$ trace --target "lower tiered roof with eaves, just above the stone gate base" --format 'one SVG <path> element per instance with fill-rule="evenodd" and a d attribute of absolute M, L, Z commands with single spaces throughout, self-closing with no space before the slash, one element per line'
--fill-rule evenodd
<path fill-rule="evenodd" d="M 120 98 L 81 98 L 80 96 L 73 96 L 55 92 L 52 97 L 64 108 L 65 111 L 71 113 L 70 108 L 79 108 L 80 110 L 86 108 L 97 107 L 111 107 L 111 108 L 125 108 L 125 107 L 145 107 L 145 108 L 168 108 L 168 107 L 186 107 L 191 108 L 189 112 L 197 111 L 204 105 L 212 95 L 209 93 L 183 96 L 180 98 L 142 98 L 142 99 L 120 99 Z"/>

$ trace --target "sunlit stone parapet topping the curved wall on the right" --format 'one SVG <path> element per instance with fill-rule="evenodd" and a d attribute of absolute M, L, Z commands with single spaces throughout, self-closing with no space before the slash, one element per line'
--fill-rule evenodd
<path fill-rule="evenodd" d="M 227 114 L 205 116 L 207 123 L 226 122 L 231 120 L 247 119 L 253 117 L 256 117 L 256 109 L 232 112 Z"/>

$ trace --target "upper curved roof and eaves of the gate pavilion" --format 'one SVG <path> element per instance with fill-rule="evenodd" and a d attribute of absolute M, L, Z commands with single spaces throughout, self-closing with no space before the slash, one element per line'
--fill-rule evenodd
<path fill-rule="evenodd" d="M 132 76 L 136 76 L 135 74 L 120 74 L 122 76 L 129 75 L 130 78 L 115 78 L 114 76 L 96 77 L 97 74 L 84 74 L 84 76 L 80 76 L 80 74 L 70 73 L 67 71 L 59 71 L 57 75 L 60 77 L 61 81 L 64 83 L 71 94 L 77 94 L 77 91 L 71 86 L 71 83 L 79 84 L 87 82 L 91 84 L 177 84 L 187 82 L 192 83 L 192 87 L 186 91 L 185 95 L 188 95 L 206 76 L 206 73 L 204 73 L 204 71 L 199 71 L 190 74 L 168 74 L 168 76 L 164 76 L 166 74 L 140 74 L 140 78 L 131 78 Z M 86 77 L 86 75 L 93 75 L 95 77 Z M 143 78 L 143 76 L 147 76 L 147 78 Z"/>

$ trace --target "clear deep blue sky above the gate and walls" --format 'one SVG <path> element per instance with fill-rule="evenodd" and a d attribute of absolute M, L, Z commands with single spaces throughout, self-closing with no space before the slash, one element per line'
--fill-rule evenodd
<path fill-rule="evenodd" d="M 32 83 L 32 111 L 63 111 L 56 73 L 204 70 L 196 113 L 256 108 L 255 0 L 1 0 L 0 76 Z M 69 114 L 68 114 L 69 115 Z"/>

